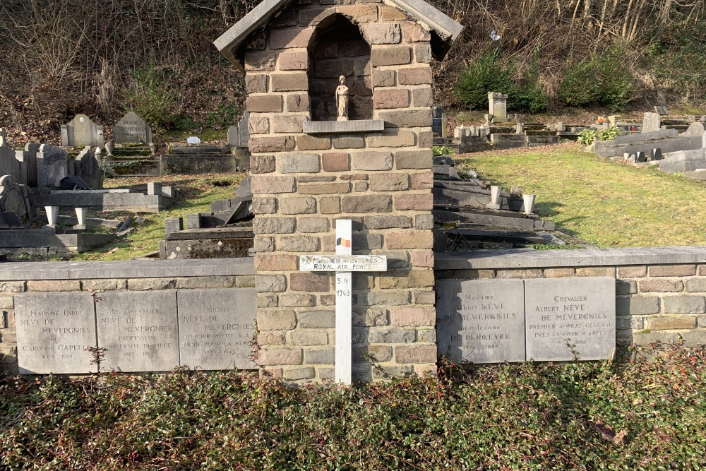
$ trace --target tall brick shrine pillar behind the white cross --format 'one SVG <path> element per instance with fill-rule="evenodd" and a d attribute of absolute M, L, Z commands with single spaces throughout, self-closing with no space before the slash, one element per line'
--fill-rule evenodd
<path fill-rule="evenodd" d="M 260 362 L 287 380 L 333 378 L 333 274 L 298 272 L 298 254 L 335 254 L 335 220 L 346 218 L 353 253 L 386 254 L 390 268 L 353 276 L 354 379 L 433 373 L 429 32 L 374 0 L 300 3 L 254 34 L 245 54 Z M 369 63 L 348 68 L 344 52 L 320 75 L 345 75 L 351 100 L 372 90 L 371 118 L 390 127 L 307 135 L 313 48 L 318 32 L 343 18 L 369 44 Z"/>

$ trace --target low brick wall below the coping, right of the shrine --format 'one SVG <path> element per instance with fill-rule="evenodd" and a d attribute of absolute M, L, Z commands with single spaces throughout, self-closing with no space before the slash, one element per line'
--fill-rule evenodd
<path fill-rule="evenodd" d="M 436 270 L 435 274 L 437 280 L 613 277 L 618 345 L 706 345 L 706 265 L 465 269 Z"/>

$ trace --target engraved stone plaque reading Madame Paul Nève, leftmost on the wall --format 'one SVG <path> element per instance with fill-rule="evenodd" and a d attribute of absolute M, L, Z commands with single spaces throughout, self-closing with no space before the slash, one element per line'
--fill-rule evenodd
<path fill-rule="evenodd" d="M 95 373 L 86 347 L 95 347 L 90 293 L 16 294 L 20 374 Z"/>

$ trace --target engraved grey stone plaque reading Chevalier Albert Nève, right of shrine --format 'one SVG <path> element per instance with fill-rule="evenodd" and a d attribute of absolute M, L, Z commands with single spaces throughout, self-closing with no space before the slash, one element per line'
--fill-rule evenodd
<path fill-rule="evenodd" d="M 616 345 L 616 280 L 525 280 L 527 359 L 606 359 Z"/>

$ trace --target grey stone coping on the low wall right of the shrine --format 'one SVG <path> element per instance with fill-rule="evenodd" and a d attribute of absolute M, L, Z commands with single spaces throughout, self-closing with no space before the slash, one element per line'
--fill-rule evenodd
<path fill-rule="evenodd" d="M 435 270 L 554 268 L 577 266 L 706 263 L 706 246 L 633 247 L 577 250 L 479 250 L 472 254 L 434 254 Z"/>

